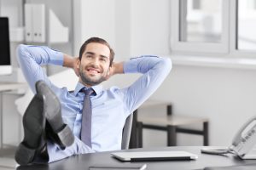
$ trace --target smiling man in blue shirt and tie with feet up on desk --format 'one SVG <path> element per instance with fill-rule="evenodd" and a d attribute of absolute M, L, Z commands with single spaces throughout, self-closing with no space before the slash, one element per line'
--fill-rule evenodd
<path fill-rule="evenodd" d="M 15 156 L 20 164 L 52 162 L 78 154 L 120 150 L 126 117 L 160 87 L 172 68 L 171 59 L 156 56 L 141 56 L 113 63 L 113 49 L 108 42 L 98 37 L 91 37 L 84 42 L 79 58 L 47 47 L 26 45 L 20 45 L 17 53 L 26 81 L 32 91 L 37 93 L 35 103 L 44 104 L 37 111 L 33 105 L 29 105 L 23 117 L 25 138 Z M 49 64 L 73 68 L 79 77 L 73 92 L 68 92 L 67 88 L 57 88 L 49 82 L 40 66 Z M 105 90 L 100 85 L 115 74 L 137 72 L 143 76 L 127 88 L 112 87 Z M 90 89 L 92 94 L 86 99 L 86 90 Z M 90 110 L 83 109 L 87 101 L 91 101 L 91 118 L 88 118 L 91 124 L 84 122 L 84 111 Z M 61 111 L 54 105 L 60 105 Z M 31 121 L 31 116 L 36 121 Z M 33 126 L 30 126 L 31 122 Z M 38 127 L 38 130 L 33 127 Z M 89 132 L 86 129 L 90 129 Z M 59 134 L 62 132 L 67 132 L 67 139 L 61 139 Z M 89 141 L 84 142 L 84 135 Z"/>

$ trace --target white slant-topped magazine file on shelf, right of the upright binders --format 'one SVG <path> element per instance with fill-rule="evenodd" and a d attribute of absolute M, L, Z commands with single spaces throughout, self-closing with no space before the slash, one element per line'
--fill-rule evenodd
<path fill-rule="evenodd" d="M 49 42 L 68 42 L 68 27 L 62 25 L 51 9 L 49 9 Z"/>

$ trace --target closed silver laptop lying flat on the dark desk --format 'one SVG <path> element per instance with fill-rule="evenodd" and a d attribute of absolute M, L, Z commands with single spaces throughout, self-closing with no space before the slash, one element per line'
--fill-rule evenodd
<path fill-rule="evenodd" d="M 170 161 L 170 160 L 195 160 L 197 155 L 187 151 L 133 151 L 113 152 L 112 156 L 120 161 Z"/>

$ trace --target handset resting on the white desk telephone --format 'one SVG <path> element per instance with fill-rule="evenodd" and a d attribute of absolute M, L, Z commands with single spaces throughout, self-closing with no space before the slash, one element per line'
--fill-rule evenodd
<path fill-rule="evenodd" d="M 232 141 L 230 150 L 235 151 L 236 155 L 244 156 L 253 149 L 256 144 L 256 116 L 247 121 L 236 133 Z"/>

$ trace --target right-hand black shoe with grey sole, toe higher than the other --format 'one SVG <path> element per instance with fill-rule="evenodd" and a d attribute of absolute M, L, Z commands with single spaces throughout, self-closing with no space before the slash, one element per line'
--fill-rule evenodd
<path fill-rule="evenodd" d="M 36 82 L 36 89 L 44 99 L 44 113 L 49 124 L 48 136 L 64 150 L 66 146 L 73 144 L 74 136 L 71 129 L 62 120 L 61 103 L 44 81 Z"/>

